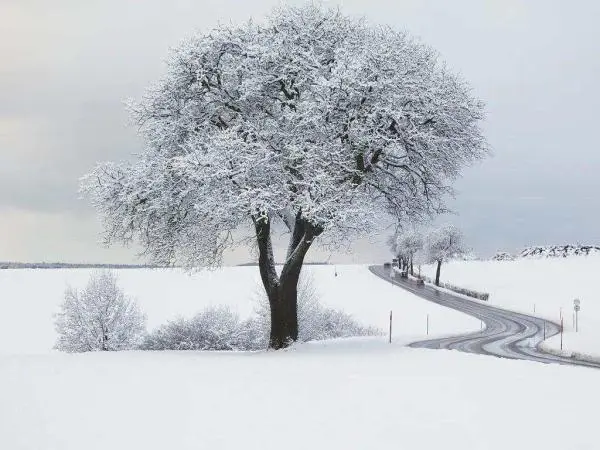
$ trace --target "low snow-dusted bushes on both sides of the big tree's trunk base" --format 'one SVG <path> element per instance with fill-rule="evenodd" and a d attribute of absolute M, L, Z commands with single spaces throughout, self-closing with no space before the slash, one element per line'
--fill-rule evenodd
<path fill-rule="evenodd" d="M 211 307 L 191 319 L 178 318 L 148 334 L 143 350 L 262 350 L 268 347 L 269 303 L 257 299 L 256 315 L 248 320 L 226 307 Z M 343 311 L 325 308 L 310 278 L 298 284 L 300 342 L 352 336 L 374 336 L 381 332 L 363 327 Z"/>

